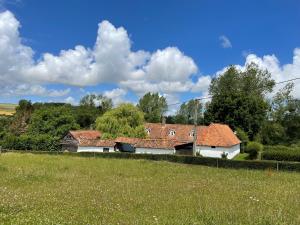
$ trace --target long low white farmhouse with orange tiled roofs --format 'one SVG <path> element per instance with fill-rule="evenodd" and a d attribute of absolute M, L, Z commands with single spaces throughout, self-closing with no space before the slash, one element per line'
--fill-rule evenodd
<path fill-rule="evenodd" d="M 138 154 L 192 154 L 194 126 L 146 123 L 147 138 L 118 137 L 102 140 L 99 131 L 70 131 L 63 150 L 77 152 L 132 152 Z M 240 140 L 229 126 L 212 123 L 197 126 L 196 152 L 202 156 L 232 159 L 240 152 Z"/>

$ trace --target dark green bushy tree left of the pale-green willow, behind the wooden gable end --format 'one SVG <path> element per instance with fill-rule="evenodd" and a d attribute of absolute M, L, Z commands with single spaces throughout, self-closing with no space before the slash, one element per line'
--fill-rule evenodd
<path fill-rule="evenodd" d="M 49 134 L 62 138 L 69 130 L 79 129 L 70 105 L 40 106 L 32 116 L 28 127 L 30 135 Z"/>

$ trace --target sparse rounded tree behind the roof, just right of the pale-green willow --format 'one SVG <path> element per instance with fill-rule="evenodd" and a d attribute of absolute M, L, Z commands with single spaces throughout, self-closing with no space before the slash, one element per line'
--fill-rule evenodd
<path fill-rule="evenodd" d="M 148 92 L 140 100 L 137 107 L 144 112 L 145 120 L 151 123 L 158 123 L 168 110 L 167 100 L 158 93 Z"/>

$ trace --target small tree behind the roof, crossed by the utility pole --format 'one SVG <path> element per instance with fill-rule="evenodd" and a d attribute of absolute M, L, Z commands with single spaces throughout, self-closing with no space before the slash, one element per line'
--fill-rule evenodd
<path fill-rule="evenodd" d="M 181 124 L 193 124 L 195 117 L 195 107 L 197 105 L 197 100 L 190 100 L 187 103 L 183 103 L 180 109 L 177 111 L 175 116 L 176 123 Z M 202 122 L 202 104 L 198 104 L 197 108 L 197 123 Z"/>

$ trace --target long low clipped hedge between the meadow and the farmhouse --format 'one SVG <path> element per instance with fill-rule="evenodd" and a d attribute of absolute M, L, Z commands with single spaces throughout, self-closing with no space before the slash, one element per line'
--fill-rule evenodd
<path fill-rule="evenodd" d="M 26 151 L 15 151 L 25 153 Z M 80 157 L 99 157 L 99 158 L 114 158 L 114 159 L 145 159 L 155 161 L 168 161 L 193 165 L 204 165 L 210 167 L 220 168 L 234 168 L 234 169 L 272 169 L 300 172 L 300 163 L 298 162 L 277 162 L 277 161 L 251 161 L 251 160 L 226 160 L 197 156 L 183 156 L 183 155 L 154 155 L 154 154 L 134 154 L 134 153 L 94 153 L 94 152 L 44 152 L 34 151 L 36 154 L 61 154 L 68 156 Z"/>

